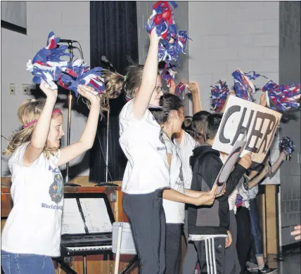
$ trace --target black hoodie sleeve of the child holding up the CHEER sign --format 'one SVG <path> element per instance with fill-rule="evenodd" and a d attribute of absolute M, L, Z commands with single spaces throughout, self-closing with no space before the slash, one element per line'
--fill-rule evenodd
<path fill-rule="evenodd" d="M 207 154 L 205 159 L 203 159 L 203 163 L 200 164 L 200 174 L 202 174 L 203 179 L 210 189 L 212 189 L 214 181 L 219 175 L 219 171 L 222 169 L 222 166 L 222 160 L 219 159 L 218 155 L 214 155 L 212 153 Z M 217 198 L 220 202 L 228 199 L 244 173 L 245 168 L 240 164 L 236 164 L 235 169 L 231 172 L 228 180 L 226 181 L 226 193 L 222 197 Z"/>

